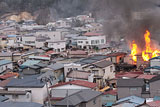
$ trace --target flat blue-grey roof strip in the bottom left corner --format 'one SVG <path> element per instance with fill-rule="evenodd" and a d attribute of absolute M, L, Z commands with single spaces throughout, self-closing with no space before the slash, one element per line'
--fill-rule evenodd
<path fill-rule="evenodd" d="M 43 107 L 42 104 L 33 102 L 0 102 L 1 107 Z"/>

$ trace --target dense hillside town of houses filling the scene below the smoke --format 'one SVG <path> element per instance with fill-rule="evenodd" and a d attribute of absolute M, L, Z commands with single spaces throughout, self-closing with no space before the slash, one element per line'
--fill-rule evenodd
<path fill-rule="evenodd" d="M 160 57 L 135 64 L 125 41 L 79 15 L 0 22 L 0 106 L 159 107 Z"/>

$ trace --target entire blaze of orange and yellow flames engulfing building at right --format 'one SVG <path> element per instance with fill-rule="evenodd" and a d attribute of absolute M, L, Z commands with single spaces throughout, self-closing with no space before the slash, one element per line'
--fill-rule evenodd
<path fill-rule="evenodd" d="M 149 30 L 146 30 L 144 34 L 145 46 L 143 49 L 139 48 L 136 44 L 136 41 L 131 43 L 131 57 L 134 63 L 141 63 L 149 61 L 153 57 L 160 55 L 160 50 L 154 45 L 154 42 L 151 40 L 151 34 Z M 143 59 L 143 60 L 142 60 Z"/>

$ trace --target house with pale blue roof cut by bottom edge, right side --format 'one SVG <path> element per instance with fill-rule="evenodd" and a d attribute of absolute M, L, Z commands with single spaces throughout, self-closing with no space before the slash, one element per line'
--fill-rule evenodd
<path fill-rule="evenodd" d="M 144 98 L 137 96 L 129 96 L 119 99 L 113 107 L 139 107 L 144 103 Z"/>

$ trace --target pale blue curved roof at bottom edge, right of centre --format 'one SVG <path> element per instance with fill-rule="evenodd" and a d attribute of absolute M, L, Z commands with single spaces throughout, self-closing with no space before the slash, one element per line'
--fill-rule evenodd
<path fill-rule="evenodd" d="M 134 106 L 139 106 L 145 102 L 145 99 L 137 96 L 129 96 L 118 100 L 116 104 L 123 103 L 125 101 L 128 101 L 130 104 L 133 104 Z"/>

